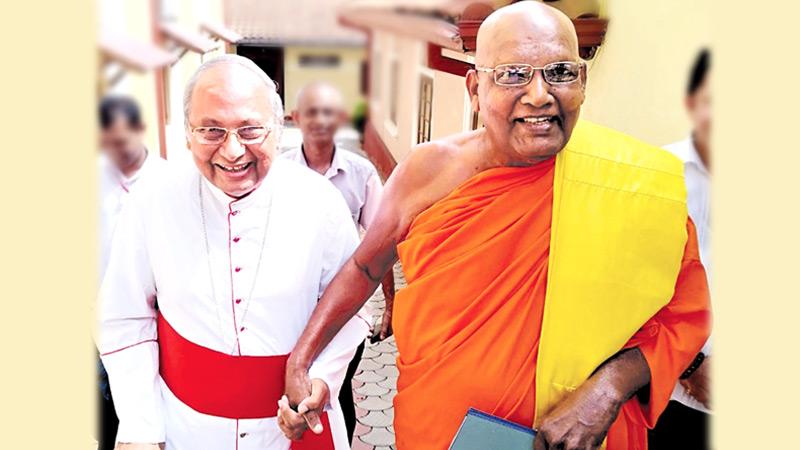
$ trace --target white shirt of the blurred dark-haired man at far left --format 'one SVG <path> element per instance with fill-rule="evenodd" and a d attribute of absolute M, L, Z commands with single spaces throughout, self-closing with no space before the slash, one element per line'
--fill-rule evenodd
<path fill-rule="evenodd" d="M 117 218 L 128 200 L 128 194 L 134 189 L 136 183 L 142 178 L 158 176 L 165 170 L 167 161 L 160 156 L 147 152 L 142 167 L 133 175 L 126 177 L 116 165 L 101 153 L 97 159 L 98 193 L 99 193 L 99 231 L 100 231 L 100 256 L 98 269 L 100 280 L 108 264 L 108 254 L 111 251 L 111 238 L 117 225 Z"/>

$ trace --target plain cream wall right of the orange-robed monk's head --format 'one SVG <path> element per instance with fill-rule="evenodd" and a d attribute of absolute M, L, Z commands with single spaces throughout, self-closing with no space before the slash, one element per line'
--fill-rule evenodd
<path fill-rule="evenodd" d="M 688 135 L 685 86 L 698 50 L 710 43 L 709 3 L 604 2 L 610 24 L 589 62 L 582 117 L 655 145 Z"/>

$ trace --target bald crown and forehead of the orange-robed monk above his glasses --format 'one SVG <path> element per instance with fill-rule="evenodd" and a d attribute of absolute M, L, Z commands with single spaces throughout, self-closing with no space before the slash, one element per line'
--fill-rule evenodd
<path fill-rule="evenodd" d="M 523 1 L 490 14 L 478 30 L 475 62 L 493 66 L 503 48 L 521 45 L 563 45 L 578 58 L 578 35 L 564 13 L 537 1 Z"/>

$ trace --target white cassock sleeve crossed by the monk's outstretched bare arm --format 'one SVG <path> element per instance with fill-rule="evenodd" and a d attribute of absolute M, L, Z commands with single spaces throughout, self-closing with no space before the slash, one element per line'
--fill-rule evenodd
<path fill-rule="evenodd" d="M 321 297 L 325 288 L 333 280 L 336 273 L 350 259 L 358 247 L 358 233 L 350 217 L 344 198 L 338 195 L 332 201 L 330 208 L 323 256 L 322 274 L 320 277 L 319 294 Z M 342 327 L 339 333 L 319 354 L 311 364 L 308 375 L 325 381 L 330 389 L 330 401 L 338 402 L 339 390 L 347 372 L 347 366 L 355 355 L 356 348 L 364 342 L 369 331 L 367 322 L 360 316 L 353 316 Z"/>

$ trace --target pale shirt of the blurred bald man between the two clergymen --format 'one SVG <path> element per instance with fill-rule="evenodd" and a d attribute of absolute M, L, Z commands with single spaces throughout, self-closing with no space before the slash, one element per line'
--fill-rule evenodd
<path fill-rule="evenodd" d="M 280 157 L 308 167 L 302 146 L 287 150 Z M 335 148 L 331 166 L 323 176 L 341 192 L 353 222 L 364 230 L 369 228 L 383 195 L 383 184 L 375 166 L 349 150 Z"/>

